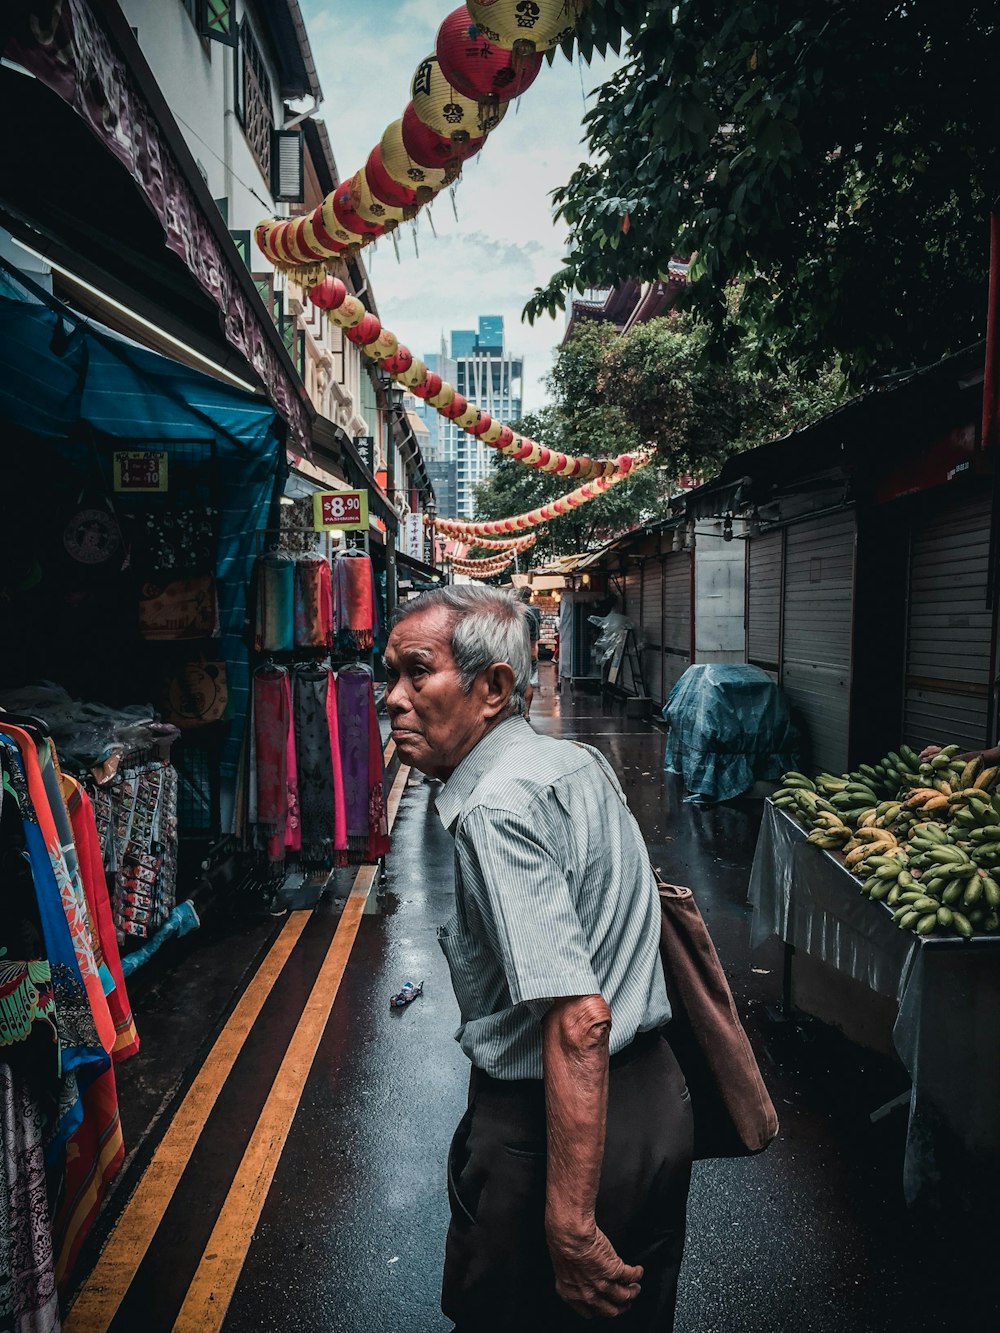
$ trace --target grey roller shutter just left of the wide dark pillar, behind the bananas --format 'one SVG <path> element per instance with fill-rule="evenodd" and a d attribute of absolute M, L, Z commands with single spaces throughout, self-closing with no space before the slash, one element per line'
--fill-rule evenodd
<path fill-rule="evenodd" d="M 781 686 L 797 714 L 813 768 L 848 761 L 855 515 L 785 529 Z"/>

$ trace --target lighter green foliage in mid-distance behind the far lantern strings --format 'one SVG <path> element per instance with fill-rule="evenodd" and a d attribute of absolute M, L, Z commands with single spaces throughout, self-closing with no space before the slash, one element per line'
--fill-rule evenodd
<path fill-rule="evenodd" d="M 531 564 L 588 551 L 667 512 L 677 481 L 707 477 L 729 455 L 785 435 L 844 400 L 836 367 L 803 380 L 791 371 L 763 373 L 756 349 L 740 344 L 725 364 L 705 349 L 709 327 L 675 313 L 624 336 L 584 323 L 556 352 L 549 405 L 517 429 L 560 453 L 615 457 L 655 449 L 656 463 L 600 500 L 549 524 Z M 505 519 L 573 489 L 565 477 L 497 456 L 476 492 L 479 519 Z"/>

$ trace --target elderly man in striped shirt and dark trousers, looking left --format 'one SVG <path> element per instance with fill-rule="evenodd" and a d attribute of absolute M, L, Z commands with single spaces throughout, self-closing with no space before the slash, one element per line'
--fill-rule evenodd
<path fill-rule="evenodd" d="M 604 758 L 524 721 L 524 607 L 407 603 L 385 651 L 392 736 L 444 781 L 455 914 L 439 930 L 472 1061 L 452 1140 L 441 1308 L 461 1333 L 669 1333 L 691 1104 L 664 1025 L 659 900 Z"/>

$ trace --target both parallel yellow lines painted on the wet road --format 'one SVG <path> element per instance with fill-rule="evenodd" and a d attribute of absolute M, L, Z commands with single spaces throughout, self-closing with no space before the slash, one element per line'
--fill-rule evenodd
<path fill-rule="evenodd" d="M 391 752 L 387 750 L 387 762 Z M 409 768 L 400 768 L 392 785 L 388 801 L 389 828 L 396 821 L 408 776 Z M 173 1325 L 175 1333 L 209 1333 L 223 1326 L 377 873 L 377 866 L 364 865 L 355 877 L 303 1016 Z M 156 1236 L 219 1093 L 311 916 L 312 912 L 293 912 L 288 917 L 219 1033 L 93 1272 L 64 1320 L 64 1333 L 105 1333 L 111 1326 Z"/>

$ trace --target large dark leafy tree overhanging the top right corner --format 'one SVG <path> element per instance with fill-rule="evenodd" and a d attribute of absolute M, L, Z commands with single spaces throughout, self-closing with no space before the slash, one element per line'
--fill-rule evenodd
<path fill-rule="evenodd" d="M 761 361 L 839 355 L 860 384 L 983 336 L 993 5 L 592 0 L 579 49 L 623 31 L 587 116 L 592 164 L 555 195 L 569 255 L 529 317 L 693 256 L 685 300 L 715 355 L 752 329 Z"/>

